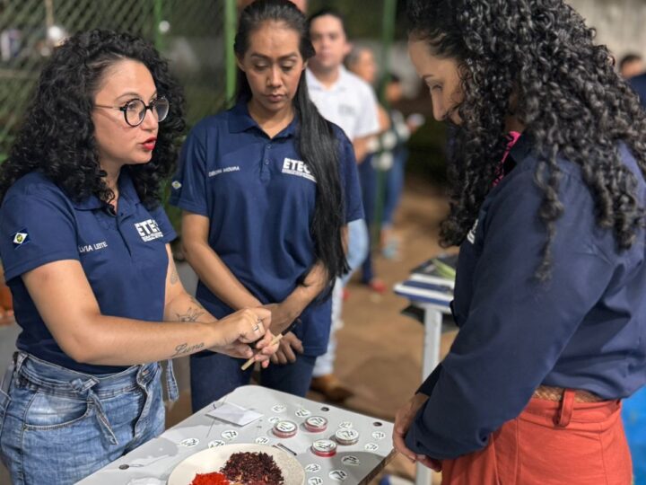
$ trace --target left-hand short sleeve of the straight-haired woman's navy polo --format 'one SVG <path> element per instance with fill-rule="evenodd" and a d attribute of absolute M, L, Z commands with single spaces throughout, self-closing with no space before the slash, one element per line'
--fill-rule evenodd
<path fill-rule="evenodd" d="M 170 204 L 200 216 L 208 216 L 206 204 L 205 130 L 197 125 L 179 155 L 179 168 L 170 182 Z"/>

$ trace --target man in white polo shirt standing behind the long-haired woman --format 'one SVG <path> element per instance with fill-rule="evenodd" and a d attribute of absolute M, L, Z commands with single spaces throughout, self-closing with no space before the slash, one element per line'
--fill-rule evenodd
<path fill-rule="evenodd" d="M 321 115 L 345 131 L 354 145 L 357 163 L 367 154 L 371 137 L 380 131 L 377 99 L 369 84 L 348 72 L 343 66 L 350 51 L 343 17 L 334 10 L 321 10 L 310 17 L 310 38 L 316 56 L 310 59 L 307 83 L 310 99 Z M 368 253 L 368 228 L 365 221 L 348 225 L 347 260 L 351 272 L 358 268 Z M 332 333 L 327 354 L 317 359 L 311 388 L 322 392 L 329 401 L 344 401 L 352 392 L 345 389 L 332 374 L 336 349 L 335 331 L 341 322 L 344 281 L 337 281 L 332 300 Z"/>

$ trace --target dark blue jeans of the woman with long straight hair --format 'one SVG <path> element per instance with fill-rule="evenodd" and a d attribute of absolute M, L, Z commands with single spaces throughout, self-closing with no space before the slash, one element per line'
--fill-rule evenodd
<path fill-rule="evenodd" d="M 260 384 L 276 391 L 305 397 L 310 389 L 311 373 L 316 357 L 296 356 L 296 362 L 284 366 L 270 364 L 260 371 Z M 193 412 L 201 410 L 213 401 L 241 385 L 249 384 L 253 367 L 240 369 L 244 359 L 200 352 L 190 357 L 191 405 Z"/>

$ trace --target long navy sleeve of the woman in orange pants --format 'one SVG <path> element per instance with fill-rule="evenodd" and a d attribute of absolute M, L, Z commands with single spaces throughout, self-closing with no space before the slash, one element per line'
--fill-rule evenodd
<path fill-rule="evenodd" d="M 566 174 L 552 275 L 537 282 L 546 242 L 537 215 L 542 191 L 532 172 L 519 179 L 500 187 L 486 214 L 481 211 L 476 243 L 465 242 L 461 250 L 482 251 L 474 295 L 448 356 L 420 388 L 430 397 L 406 435 L 415 453 L 451 459 L 483 448 L 525 408 L 613 278 L 614 265 L 599 249 L 606 242 L 595 240 L 602 236 L 589 190 Z"/>

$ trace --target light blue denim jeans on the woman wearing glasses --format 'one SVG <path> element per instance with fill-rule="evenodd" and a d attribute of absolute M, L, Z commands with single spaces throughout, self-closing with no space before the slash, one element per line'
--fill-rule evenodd
<path fill-rule="evenodd" d="M 0 457 L 13 484 L 74 483 L 160 435 L 161 372 L 152 363 L 87 375 L 18 352 L 0 390 Z"/>

